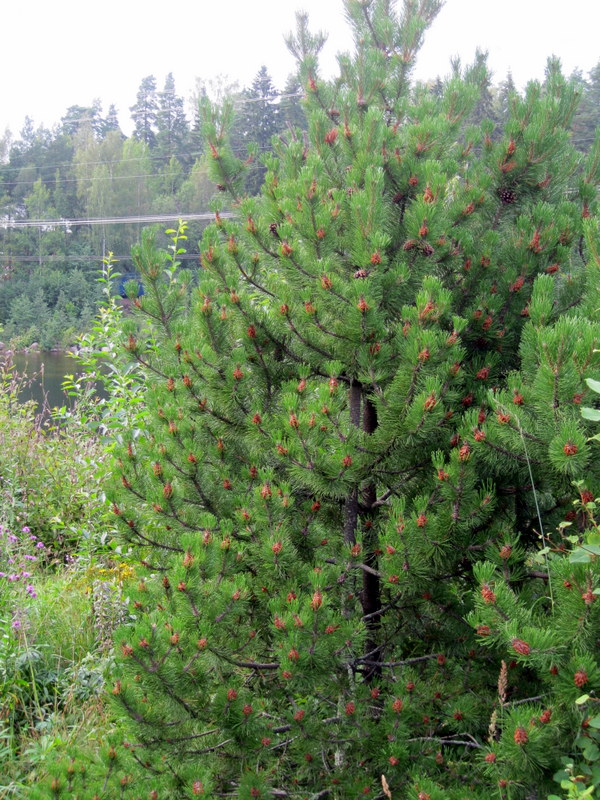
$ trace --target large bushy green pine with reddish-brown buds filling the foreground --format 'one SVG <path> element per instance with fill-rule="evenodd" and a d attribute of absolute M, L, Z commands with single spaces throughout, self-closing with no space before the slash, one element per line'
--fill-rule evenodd
<path fill-rule="evenodd" d="M 134 250 L 147 427 L 117 444 L 140 567 L 112 758 L 137 795 L 541 798 L 598 691 L 597 571 L 569 561 L 557 592 L 546 548 L 586 535 L 572 482 L 600 490 L 579 413 L 600 148 L 571 148 L 556 64 L 497 142 L 464 125 L 482 63 L 411 94 L 439 7 L 346 0 L 331 83 L 300 17 L 308 139 L 249 197 L 233 108 L 205 103 L 236 217 L 193 290 L 182 230 Z M 565 516 L 574 538 L 540 549 Z"/>

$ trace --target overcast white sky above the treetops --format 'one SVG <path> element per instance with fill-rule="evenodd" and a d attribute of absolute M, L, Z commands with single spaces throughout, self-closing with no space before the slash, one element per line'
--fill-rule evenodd
<path fill-rule="evenodd" d="M 401 3 L 401 0 L 399 0 Z M 324 67 L 351 39 L 342 0 L 5 0 L 0 48 L 0 134 L 17 135 L 25 115 L 52 126 L 70 105 L 115 103 L 124 130 L 140 80 L 162 88 L 173 72 L 188 99 L 196 78 L 229 75 L 248 85 L 265 64 L 282 88 L 294 63 L 283 34 L 298 9 L 329 33 Z M 567 73 L 600 60 L 600 0 L 446 0 L 430 29 L 416 76 L 446 74 L 450 58 L 487 49 L 495 80 L 541 78 L 548 55 Z"/>

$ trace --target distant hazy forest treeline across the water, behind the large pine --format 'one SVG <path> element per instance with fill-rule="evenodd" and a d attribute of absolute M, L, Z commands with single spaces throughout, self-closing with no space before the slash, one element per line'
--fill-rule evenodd
<path fill-rule="evenodd" d="M 577 72 L 572 78 L 581 92 L 572 139 L 586 151 L 600 124 L 600 62 L 587 77 Z M 439 93 L 442 81 L 426 89 Z M 264 66 L 248 88 L 221 90 L 235 101 L 234 151 L 248 158 L 246 189 L 254 194 L 264 175 L 261 155 L 270 150 L 272 137 L 290 127 L 306 129 L 302 90 L 293 77 L 278 90 Z M 500 135 L 515 93 L 510 75 L 490 82 L 469 124 L 492 119 Z M 130 114 L 130 136 L 122 132 L 115 106 L 104 113 L 95 101 L 69 107 L 52 129 L 27 118 L 17 138 L 8 131 L 0 138 L 0 338 L 12 346 L 72 343 L 96 312 L 103 256 L 110 251 L 121 272 L 132 270 L 131 246 L 150 220 L 109 220 L 189 218 L 209 210 L 219 191 L 208 176 L 199 118 L 186 116 L 172 74 L 162 89 L 154 76 L 145 77 Z M 55 220 L 94 222 L 43 224 Z M 188 266 L 198 264 L 196 243 L 204 224 L 190 224 Z"/>

